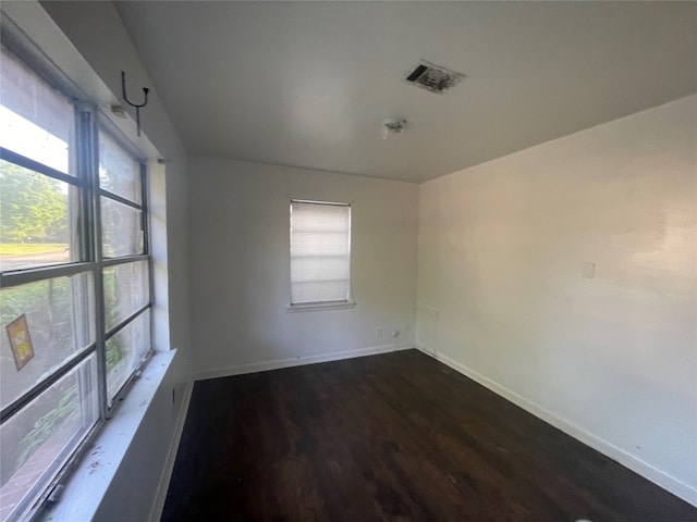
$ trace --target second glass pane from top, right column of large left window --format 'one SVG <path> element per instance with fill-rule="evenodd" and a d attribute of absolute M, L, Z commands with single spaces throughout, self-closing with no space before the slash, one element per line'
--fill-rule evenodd
<path fill-rule="evenodd" d="M 143 253 L 140 211 L 101 198 L 101 244 L 105 258 Z"/>

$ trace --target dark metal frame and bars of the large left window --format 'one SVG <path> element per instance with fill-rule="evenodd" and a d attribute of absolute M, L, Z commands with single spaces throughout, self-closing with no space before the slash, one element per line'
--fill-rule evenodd
<path fill-rule="evenodd" d="M 71 167 L 71 173 L 66 174 L 4 147 L 0 147 L 0 158 L 11 164 L 28 169 L 48 178 L 57 179 L 69 184 L 71 187 L 75 187 L 77 197 L 74 203 L 70 202 L 69 204 L 75 204 L 77 207 L 74 210 L 78 213 L 78 217 L 74 233 L 77 244 L 75 260 L 69 260 L 61 264 L 38 265 L 17 270 L 3 271 L 0 269 L 0 289 L 78 274 L 89 274 L 93 282 L 91 289 L 86 289 L 88 294 L 80 294 L 81 296 L 87 296 L 87 298 L 89 298 L 89 293 L 91 293 L 94 308 L 84 314 L 85 324 L 94 331 L 91 341 L 87 343 L 86 346 L 81 346 L 77 351 L 68 356 L 56 369 L 44 374 L 38 382 L 32 383 L 22 395 L 0 410 L 0 424 L 5 424 L 5 422 L 9 422 L 14 415 L 23 411 L 25 407 L 32 405 L 35 399 L 42 397 L 44 394 L 61 378 L 74 370 L 80 369 L 80 365 L 84 361 L 90 357 L 96 358 L 96 393 L 98 397 L 96 421 L 91 422 L 91 425 L 86 430 L 71 436 L 70 444 L 62 448 L 56 459 L 51 461 L 50 471 L 45 472 L 44 476 L 40 476 L 40 478 L 27 489 L 28 493 L 9 514 L 9 520 L 15 520 L 17 518 L 22 520 L 35 520 L 44 513 L 46 508 L 52 506 L 58 500 L 65 480 L 69 477 L 70 472 L 77 461 L 83 457 L 84 450 L 88 444 L 98 436 L 106 421 L 113 417 L 123 397 L 129 393 L 134 381 L 139 376 L 143 368 L 155 353 L 152 347 L 152 309 L 155 295 L 152 259 L 150 253 L 150 215 L 148 209 L 150 195 L 147 162 L 137 148 L 117 129 L 108 117 L 100 113 L 96 104 L 82 98 L 80 94 L 76 92 L 76 89 L 70 88 L 60 71 L 47 66 L 40 55 L 34 54 L 24 46 L 12 41 L 12 38 L 8 38 L 9 41 L 5 41 L 4 36 L 14 37 L 14 35 L 7 35 L 7 33 L 3 35 L 3 54 L 13 54 L 16 60 L 23 62 L 33 74 L 38 77 L 38 82 L 42 82 L 51 87 L 73 105 L 73 117 L 75 120 L 71 148 L 74 148 L 74 150 L 71 151 L 71 164 L 74 164 L 74 166 Z M 137 162 L 140 203 L 131 201 L 127 198 L 112 194 L 100 187 L 98 167 L 100 133 L 107 134 Z M 71 175 L 73 171 L 75 175 Z M 140 211 L 140 229 L 143 235 L 140 253 L 105 258 L 102 251 L 101 222 L 102 198 L 137 208 Z M 147 263 L 148 272 L 147 302 L 126 318 L 121 319 L 114 326 L 107 331 L 103 288 L 105 270 L 143 261 Z M 76 307 L 77 304 L 73 302 L 72 306 Z M 106 343 L 137 318 L 142 318 L 144 313 L 149 313 L 147 350 L 138 360 L 137 364 L 134 365 L 127 378 L 119 386 L 113 397 L 110 398 L 108 393 Z M 91 324 L 89 324 L 90 322 Z M 86 402 L 86 400 L 87 396 L 80 396 L 77 399 L 77 408 L 85 408 L 85 405 L 91 407 L 93 402 Z"/>

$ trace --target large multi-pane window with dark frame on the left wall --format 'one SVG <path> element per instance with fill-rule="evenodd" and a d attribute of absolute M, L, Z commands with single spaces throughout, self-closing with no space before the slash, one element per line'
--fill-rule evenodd
<path fill-rule="evenodd" d="M 0 522 L 36 512 L 150 352 L 146 172 L 0 55 Z"/>

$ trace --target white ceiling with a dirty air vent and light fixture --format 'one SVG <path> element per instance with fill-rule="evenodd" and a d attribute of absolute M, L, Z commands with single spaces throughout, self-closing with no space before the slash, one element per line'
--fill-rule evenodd
<path fill-rule="evenodd" d="M 423 182 L 697 91 L 697 2 L 117 8 L 196 156 Z M 466 78 L 418 89 L 419 59 Z"/>

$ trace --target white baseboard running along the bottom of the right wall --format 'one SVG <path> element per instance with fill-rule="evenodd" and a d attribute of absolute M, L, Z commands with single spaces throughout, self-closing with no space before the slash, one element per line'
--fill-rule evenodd
<path fill-rule="evenodd" d="M 663 471 L 655 468 L 648 462 L 643 461 L 641 459 L 635 457 L 632 453 L 628 453 L 622 448 L 614 446 L 608 440 L 594 435 L 592 433 L 587 432 L 583 427 L 574 424 L 573 422 L 567 421 L 566 419 L 549 411 L 546 408 L 526 399 L 525 397 L 512 391 L 511 389 L 502 386 L 490 378 L 481 375 L 480 373 L 475 372 L 474 370 L 461 364 L 460 362 L 451 359 L 448 356 L 444 356 L 440 352 L 432 352 L 426 347 L 417 346 L 417 348 L 426 353 L 427 356 L 432 357 L 433 359 L 441 361 L 443 364 L 452 368 L 458 373 L 462 373 L 466 377 L 472 378 L 473 381 L 481 384 L 486 388 L 489 388 L 494 394 L 503 397 L 506 400 L 510 400 L 514 405 L 523 408 L 525 411 L 534 414 L 535 417 L 541 419 L 542 421 L 551 424 L 552 426 L 561 430 L 567 435 L 571 435 L 577 440 L 580 440 L 586 446 L 591 447 L 592 449 L 601 452 L 602 455 L 620 462 L 622 465 L 628 468 L 629 470 L 638 473 L 645 478 L 651 481 L 652 483 L 659 485 L 663 489 L 669 490 L 673 495 L 682 498 L 686 502 L 692 504 L 693 506 L 697 506 L 697 489 L 685 484 L 684 482 L 675 478 L 674 476 L 664 473 Z"/>

